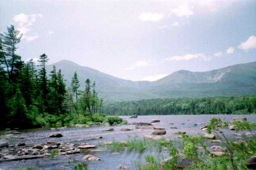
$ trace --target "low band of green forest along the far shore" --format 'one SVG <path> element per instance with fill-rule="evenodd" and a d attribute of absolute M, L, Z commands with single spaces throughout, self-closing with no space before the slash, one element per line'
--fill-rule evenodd
<path fill-rule="evenodd" d="M 109 115 L 256 113 L 256 95 L 107 102 L 103 112 Z"/>

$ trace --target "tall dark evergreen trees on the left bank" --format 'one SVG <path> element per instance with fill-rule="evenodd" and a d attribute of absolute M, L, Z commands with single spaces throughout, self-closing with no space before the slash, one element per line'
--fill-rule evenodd
<path fill-rule="evenodd" d="M 79 91 L 75 73 L 67 88 L 61 70 L 53 66 L 47 74 L 46 54 L 39 57 L 38 65 L 32 59 L 22 61 L 17 54 L 21 37 L 14 26 L 0 34 L 1 129 L 61 126 L 76 120 L 74 115 L 90 118 L 101 111 L 103 99 L 95 91 L 95 82 L 87 79 L 86 88 Z"/>

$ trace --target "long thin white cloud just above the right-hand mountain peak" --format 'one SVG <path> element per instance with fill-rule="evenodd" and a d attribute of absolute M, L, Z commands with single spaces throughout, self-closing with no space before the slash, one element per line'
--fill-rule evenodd
<path fill-rule="evenodd" d="M 201 54 L 201 53 L 196 53 L 196 54 L 185 54 L 182 56 L 173 56 L 173 57 L 169 57 L 166 58 L 166 60 L 168 61 L 180 61 L 180 60 L 189 60 L 189 59 L 202 59 L 202 60 L 210 60 L 211 57 L 210 56 L 206 56 L 205 54 Z"/>

